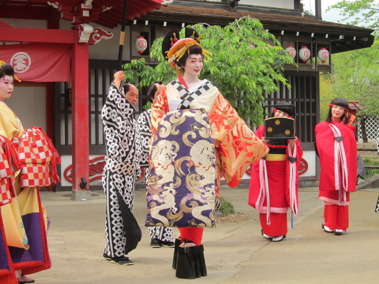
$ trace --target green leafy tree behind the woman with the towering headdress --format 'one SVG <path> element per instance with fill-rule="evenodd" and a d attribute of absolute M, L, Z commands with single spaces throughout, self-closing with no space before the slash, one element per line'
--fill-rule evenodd
<path fill-rule="evenodd" d="M 276 91 L 278 81 L 287 84 L 282 76 L 283 66 L 294 64 L 287 51 L 259 20 L 250 17 L 235 20 L 223 28 L 207 24 L 191 27 L 202 34 L 201 45 L 212 53 L 213 58 L 205 58 L 199 78 L 207 78 L 218 87 L 246 122 L 262 124 L 260 103 L 264 103 L 263 92 Z M 184 29 L 180 37 L 184 37 Z M 177 77 L 175 69 L 170 70 L 163 58 L 162 41 L 163 37 L 156 39 L 150 51 L 158 65 L 153 68 L 146 65 L 144 59 L 132 60 L 123 66 L 126 80 L 135 82 L 139 77 L 138 87 L 141 89 L 154 81 L 167 84 Z M 255 48 L 250 49 L 252 45 Z"/>

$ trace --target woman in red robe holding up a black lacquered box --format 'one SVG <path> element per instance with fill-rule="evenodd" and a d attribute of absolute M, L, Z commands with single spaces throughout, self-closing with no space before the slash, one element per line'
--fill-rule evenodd
<path fill-rule="evenodd" d="M 273 117 L 294 116 L 293 109 L 280 101 Z M 298 167 L 303 151 L 299 139 L 265 140 L 264 126 L 255 131 L 269 147 L 269 154 L 255 162 L 251 171 L 249 205 L 259 211 L 262 234 L 266 239 L 280 242 L 288 232 L 287 211 L 298 213 Z M 266 168 L 266 173 L 265 173 Z M 267 180 L 266 180 L 267 179 Z M 293 227 L 291 222 L 291 229 Z"/>

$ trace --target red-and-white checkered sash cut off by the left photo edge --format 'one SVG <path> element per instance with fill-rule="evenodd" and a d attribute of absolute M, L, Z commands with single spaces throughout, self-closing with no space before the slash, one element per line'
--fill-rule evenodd
<path fill-rule="evenodd" d="M 8 140 L 0 135 L 0 206 L 16 197 L 14 192 L 15 173 L 21 169 L 17 151 Z"/>

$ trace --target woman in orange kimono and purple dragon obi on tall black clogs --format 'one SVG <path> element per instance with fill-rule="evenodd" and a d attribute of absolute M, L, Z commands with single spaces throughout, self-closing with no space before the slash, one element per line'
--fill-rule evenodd
<path fill-rule="evenodd" d="M 230 187 L 238 186 L 247 167 L 268 148 L 216 86 L 199 80 L 210 53 L 200 45 L 197 31 L 187 27 L 180 39 L 179 29 L 172 30 L 164 37 L 162 53 L 178 77 L 152 106 L 146 225 L 179 228 L 173 268 L 178 278 L 191 279 L 207 275 L 201 240 L 205 227 L 215 227 L 220 173 Z M 199 253 L 201 273 L 187 269 L 184 259 L 191 253 Z"/>

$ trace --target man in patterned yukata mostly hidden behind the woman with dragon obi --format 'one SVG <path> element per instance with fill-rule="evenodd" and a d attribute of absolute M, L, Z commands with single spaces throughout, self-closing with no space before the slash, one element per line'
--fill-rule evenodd
<path fill-rule="evenodd" d="M 147 97 L 149 101 L 152 101 L 155 104 L 158 100 L 158 95 L 161 89 L 166 87 L 162 84 L 161 81 L 156 81 L 152 84 L 147 92 Z M 141 115 L 139 115 L 137 120 L 139 132 L 141 133 L 141 143 L 143 148 L 143 154 L 141 162 L 139 162 L 139 166 L 145 169 L 145 178 L 146 178 L 146 186 L 147 179 L 149 178 L 149 145 L 151 138 L 151 109 L 147 109 Z M 174 233 L 172 228 L 170 227 L 159 227 L 159 226 L 151 226 L 149 227 L 149 233 L 151 237 L 150 247 L 152 248 L 160 248 L 175 247 L 174 244 Z"/>

